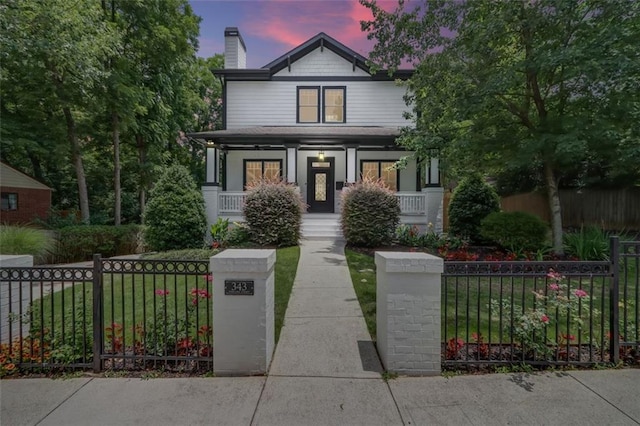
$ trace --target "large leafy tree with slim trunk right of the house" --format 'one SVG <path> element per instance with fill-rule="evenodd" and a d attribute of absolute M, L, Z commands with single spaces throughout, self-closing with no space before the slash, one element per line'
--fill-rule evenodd
<path fill-rule="evenodd" d="M 425 2 L 374 19 L 370 59 L 416 66 L 407 101 L 415 129 L 400 142 L 438 148 L 452 169 L 540 171 L 553 247 L 562 253 L 558 182 L 594 162 L 640 163 L 640 3 L 632 0 Z M 635 166 L 634 166 L 635 164 Z"/>

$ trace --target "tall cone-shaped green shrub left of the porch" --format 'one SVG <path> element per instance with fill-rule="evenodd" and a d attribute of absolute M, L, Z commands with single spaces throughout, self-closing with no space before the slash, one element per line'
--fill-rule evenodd
<path fill-rule="evenodd" d="M 151 250 L 202 247 L 207 225 L 204 199 L 185 167 L 171 166 L 160 176 L 149 193 L 144 222 Z"/>

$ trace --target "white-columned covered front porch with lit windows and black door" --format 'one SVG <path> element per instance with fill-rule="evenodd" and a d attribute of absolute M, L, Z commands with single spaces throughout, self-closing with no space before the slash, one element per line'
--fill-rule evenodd
<path fill-rule="evenodd" d="M 362 176 L 396 191 L 401 222 L 442 230 L 443 189 L 437 158 L 415 158 L 383 127 L 257 127 L 190 135 L 205 143 L 207 218 L 242 221 L 246 185 L 279 177 L 295 185 L 310 214 L 341 211 L 342 189 Z M 407 157 L 405 167 L 394 164 Z"/>

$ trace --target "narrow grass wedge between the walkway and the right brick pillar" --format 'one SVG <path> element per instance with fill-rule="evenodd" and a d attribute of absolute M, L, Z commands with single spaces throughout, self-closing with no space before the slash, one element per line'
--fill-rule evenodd
<path fill-rule="evenodd" d="M 376 265 L 373 257 L 346 249 L 349 273 L 371 338 L 376 339 Z"/>

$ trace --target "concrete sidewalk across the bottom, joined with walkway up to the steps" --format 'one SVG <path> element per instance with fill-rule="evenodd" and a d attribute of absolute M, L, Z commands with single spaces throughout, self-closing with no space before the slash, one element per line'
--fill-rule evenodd
<path fill-rule="evenodd" d="M 0 381 L 5 425 L 640 425 L 640 369 L 385 383 L 343 245 L 301 244 L 268 377 Z"/>

